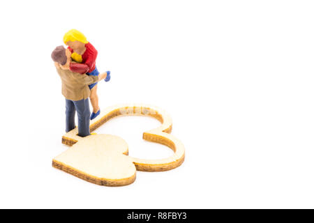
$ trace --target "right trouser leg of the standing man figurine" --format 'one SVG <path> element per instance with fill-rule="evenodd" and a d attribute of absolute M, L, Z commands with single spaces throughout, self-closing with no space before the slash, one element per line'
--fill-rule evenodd
<path fill-rule="evenodd" d="M 77 100 L 74 102 L 75 109 L 77 111 L 78 121 L 78 135 L 80 137 L 86 137 L 90 134 L 89 132 L 89 99 Z"/>

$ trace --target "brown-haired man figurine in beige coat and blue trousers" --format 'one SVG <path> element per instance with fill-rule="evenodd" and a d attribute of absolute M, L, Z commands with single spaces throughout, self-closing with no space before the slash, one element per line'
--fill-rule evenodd
<path fill-rule="evenodd" d="M 54 66 L 61 77 L 62 94 L 66 98 L 66 132 L 75 128 L 75 110 L 77 111 L 78 135 L 86 137 L 89 132 L 89 84 L 94 84 L 107 77 L 104 72 L 98 76 L 80 74 L 69 69 L 71 52 L 63 46 L 56 47 L 51 54 Z"/>

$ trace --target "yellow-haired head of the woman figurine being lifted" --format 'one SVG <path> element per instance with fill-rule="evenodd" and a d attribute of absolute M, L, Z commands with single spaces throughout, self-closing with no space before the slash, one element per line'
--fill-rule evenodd
<path fill-rule="evenodd" d="M 73 50 L 84 47 L 85 44 L 89 43 L 83 33 L 76 29 L 71 29 L 63 36 L 63 43 L 71 47 Z"/>

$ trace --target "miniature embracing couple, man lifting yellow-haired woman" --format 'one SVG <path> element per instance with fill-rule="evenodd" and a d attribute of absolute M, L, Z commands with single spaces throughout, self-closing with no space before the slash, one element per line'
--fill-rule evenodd
<path fill-rule="evenodd" d="M 62 94 L 66 98 L 66 132 L 75 128 L 77 111 L 78 135 L 88 136 L 89 120 L 100 114 L 98 106 L 97 82 L 110 80 L 110 71 L 100 74 L 96 68 L 97 50 L 83 33 L 71 29 L 63 36 L 62 45 L 52 52 L 52 60 L 61 77 Z M 89 100 L 93 107 L 91 114 Z"/>

